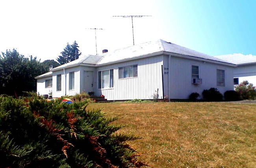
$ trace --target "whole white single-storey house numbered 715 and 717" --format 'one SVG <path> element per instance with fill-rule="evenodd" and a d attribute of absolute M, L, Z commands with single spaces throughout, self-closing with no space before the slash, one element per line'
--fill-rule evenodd
<path fill-rule="evenodd" d="M 222 94 L 233 90 L 234 67 L 227 61 L 158 40 L 87 55 L 53 68 L 36 77 L 37 92 L 48 94 L 52 90 L 53 97 L 60 97 L 93 91 L 108 100 L 132 100 L 153 99 L 158 91 L 160 99 L 188 99 L 192 92 L 201 95 L 211 87 Z"/>

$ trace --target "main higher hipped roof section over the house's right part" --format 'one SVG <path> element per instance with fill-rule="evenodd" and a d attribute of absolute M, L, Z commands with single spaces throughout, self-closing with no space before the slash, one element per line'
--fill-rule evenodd
<path fill-rule="evenodd" d="M 141 55 L 153 54 L 158 52 L 170 52 L 174 54 L 181 54 L 181 55 L 187 55 L 191 57 L 198 57 L 198 58 L 209 59 L 213 61 L 230 63 L 228 61 L 224 61 L 222 59 L 218 59 L 210 55 L 202 54 L 200 52 L 190 50 L 188 48 L 159 39 L 157 41 L 145 42 L 143 44 L 138 44 L 135 46 L 121 48 L 113 52 L 100 54 L 100 56 L 102 56 L 102 59 L 97 63 L 97 65 L 111 63 L 114 61 L 121 61 L 121 60 L 130 59 L 134 57 L 140 57 Z"/>

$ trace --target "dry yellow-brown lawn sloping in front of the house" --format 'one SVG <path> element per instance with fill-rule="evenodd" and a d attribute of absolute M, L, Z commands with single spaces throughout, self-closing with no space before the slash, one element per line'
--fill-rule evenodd
<path fill-rule="evenodd" d="M 154 168 L 255 168 L 256 104 L 90 103 L 143 139 L 129 142 Z"/>

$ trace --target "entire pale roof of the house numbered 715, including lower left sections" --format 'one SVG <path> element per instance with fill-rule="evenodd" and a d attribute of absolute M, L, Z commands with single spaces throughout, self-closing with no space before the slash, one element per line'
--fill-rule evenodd
<path fill-rule="evenodd" d="M 69 63 L 66 63 L 64 65 L 58 66 L 56 68 L 53 68 L 50 71 L 55 71 L 55 70 L 78 66 L 78 65 L 93 66 L 93 65 L 102 65 L 102 64 L 112 63 L 116 61 L 125 61 L 127 59 L 132 59 L 137 57 L 139 58 L 143 55 L 149 55 L 149 54 L 154 54 L 159 52 L 169 52 L 173 54 L 186 55 L 186 56 L 190 56 L 191 58 L 197 57 L 201 59 L 208 59 L 212 61 L 228 63 L 232 65 L 232 63 L 229 62 L 228 60 L 223 60 L 223 59 L 219 59 L 218 57 L 212 57 L 210 55 L 202 54 L 200 52 L 190 50 L 188 48 L 179 46 L 177 44 L 173 44 L 171 42 L 167 42 L 159 39 L 157 41 L 145 42 L 143 44 L 137 44 L 134 46 L 121 48 L 118 50 L 114 50 L 112 52 L 106 52 L 99 55 L 86 55 L 82 57 L 80 56 L 80 58 L 74 61 L 71 61 Z M 43 75 L 37 76 L 36 78 L 45 77 Z"/>

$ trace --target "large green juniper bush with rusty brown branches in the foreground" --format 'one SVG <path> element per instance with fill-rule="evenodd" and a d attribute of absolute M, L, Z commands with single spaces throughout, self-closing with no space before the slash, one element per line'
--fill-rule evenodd
<path fill-rule="evenodd" d="M 85 102 L 46 102 L 43 98 L 0 96 L 0 167 L 140 167 L 137 152 L 115 133 L 100 110 L 87 111 Z"/>

